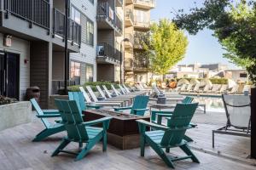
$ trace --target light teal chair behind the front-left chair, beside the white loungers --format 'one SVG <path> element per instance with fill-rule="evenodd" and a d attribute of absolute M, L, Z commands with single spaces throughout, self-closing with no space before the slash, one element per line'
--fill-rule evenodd
<path fill-rule="evenodd" d="M 79 104 L 80 110 L 84 111 L 87 108 L 101 109 L 102 105 L 86 105 L 84 95 L 82 92 L 68 92 L 69 100 L 76 100 Z"/>

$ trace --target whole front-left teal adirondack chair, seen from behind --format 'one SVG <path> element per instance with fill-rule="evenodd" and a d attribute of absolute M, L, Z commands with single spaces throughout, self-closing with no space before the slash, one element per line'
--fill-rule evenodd
<path fill-rule="evenodd" d="M 60 152 L 76 155 L 75 161 L 81 160 L 91 149 L 102 139 L 102 150 L 107 150 L 107 130 L 111 117 L 104 117 L 95 121 L 84 122 L 81 116 L 79 104 L 75 100 L 55 99 L 55 105 L 61 111 L 61 117 L 65 117 L 62 122 L 67 130 L 67 137 L 64 137 L 61 144 L 53 152 L 52 156 L 57 156 Z M 102 124 L 102 127 L 92 127 Z M 85 144 L 78 153 L 63 150 L 70 142 Z"/>

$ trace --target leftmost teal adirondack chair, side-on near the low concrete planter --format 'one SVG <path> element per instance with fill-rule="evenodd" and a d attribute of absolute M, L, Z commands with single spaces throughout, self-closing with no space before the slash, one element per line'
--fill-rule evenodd
<path fill-rule="evenodd" d="M 41 141 L 52 134 L 60 133 L 65 130 L 65 127 L 63 124 L 58 122 L 55 122 L 53 124 L 47 120 L 47 118 L 55 118 L 55 117 L 60 118 L 61 117 L 60 111 L 42 111 L 36 99 L 31 99 L 30 102 L 32 103 L 33 108 L 36 110 L 38 118 L 41 119 L 45 127 L 44 130 L 38 133 L 35 139 L 32 140 L 33 142 Z"/>

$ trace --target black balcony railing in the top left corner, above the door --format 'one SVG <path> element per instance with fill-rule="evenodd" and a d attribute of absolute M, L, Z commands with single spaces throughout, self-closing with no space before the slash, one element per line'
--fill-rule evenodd
<path fill-rule="evenodd" d="M 49 30 L 49 1 L 47 0 L 4 0 L 4 10 L 22 20 Z"/>

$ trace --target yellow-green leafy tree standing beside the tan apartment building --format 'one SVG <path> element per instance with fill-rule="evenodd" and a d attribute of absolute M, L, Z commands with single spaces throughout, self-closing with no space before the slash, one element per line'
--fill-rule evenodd
<path fill-rule="evenodd" d="M 150 27 L 144 48 L 149 56 L 150 71 L 165 75 L 173 65 L 183 59 L 188 39 L 170 20 L 160 20 Z"/>

